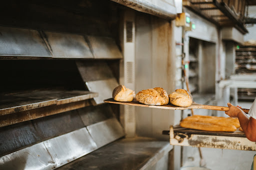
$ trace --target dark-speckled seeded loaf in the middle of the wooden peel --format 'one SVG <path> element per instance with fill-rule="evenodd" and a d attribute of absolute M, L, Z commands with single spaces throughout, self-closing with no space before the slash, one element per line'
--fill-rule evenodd
<path fill-rule="evenodd" d="M 136 100 L 146 105 L 166 105 L 169 102 L 168 95 L 163 88 L 142 90 L 136 94 Z"/>

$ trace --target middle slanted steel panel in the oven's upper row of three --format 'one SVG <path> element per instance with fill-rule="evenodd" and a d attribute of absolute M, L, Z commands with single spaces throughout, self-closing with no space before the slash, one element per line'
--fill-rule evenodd
<path fill-rule="evenodd" d="M 93 58 L 83 35 L 45 32 L 54 58 Z"/>

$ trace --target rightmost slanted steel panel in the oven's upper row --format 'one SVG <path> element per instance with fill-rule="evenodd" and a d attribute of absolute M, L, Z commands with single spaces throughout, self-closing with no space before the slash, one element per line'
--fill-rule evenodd
<path fill-rule="evenodd" d="M 122 54 L 114 39 L 108 37 L 88 36 L 92 47 L 94 58 L 102 59 L 121 59 Z"/>

